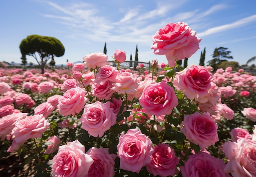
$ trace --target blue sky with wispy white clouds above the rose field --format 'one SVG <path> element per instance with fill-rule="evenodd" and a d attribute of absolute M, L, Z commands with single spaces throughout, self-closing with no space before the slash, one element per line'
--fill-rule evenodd
<path fill-rule="evenodd" d="M 169 22 L 182 21 L 202 39 L 189 65 L 199 64 L 204 47 L 207 64 L 220 46 L 231 51 L 229 61 L 242 65 L 256 56 L 255 7 L 255 0 L 1 0 L 0 61 L 20 63 L 20 42 L 37 34 L 63 43 L 65 54 L 54 58 L 56 64 L 103 52 L 105 42 L 109 59 L 121 49 L 134 60 L 138 45 L 139 61 L 167 63 L 150 49 L 151 36 Z M 29 56 L 27 61 L 36 63 Z"/>

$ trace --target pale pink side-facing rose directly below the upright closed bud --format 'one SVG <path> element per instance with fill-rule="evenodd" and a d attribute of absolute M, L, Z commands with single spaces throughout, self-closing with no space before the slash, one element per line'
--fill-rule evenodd
<path fill-rule="evenodd" d="M 132 94 L 137 92 L 139 83 L 137 77 L 130 72 L 119 72 L 117 74 L 117 83 L 113 83 L 111 90 L 118 92 L 119 94 Z"/>

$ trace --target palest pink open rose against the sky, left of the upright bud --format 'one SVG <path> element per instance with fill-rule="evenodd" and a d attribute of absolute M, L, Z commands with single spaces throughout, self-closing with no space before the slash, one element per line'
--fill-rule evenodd
<path fill-rule="evenodd" d="M 82 58 L 84 61 L 83 64 L 89 69 L 95 69 L 96 67 L 101 67 L 109 64 L 108 55 L 101 52 L 90 53 Z"/>

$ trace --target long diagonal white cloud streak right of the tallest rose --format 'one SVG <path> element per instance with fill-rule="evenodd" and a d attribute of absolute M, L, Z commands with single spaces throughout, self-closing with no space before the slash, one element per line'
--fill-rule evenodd
<path fill-rule="evenodd" d="M 202 37 L 202 36 L 207 36 L 207 35 L 211 35 L 211 34 L 215 34 L 215 33 L 221 33 L 221 32 L 225 32 L 225 31 L 229 31 L 231 29 L 234 28 L 240 28 L 241 25 L 243 24 L 247 24 L 249 22 L 253 22 L 256 21 L 256 15 L 251 15 L 249 17 L 245 17 L 243 19 L 237 20 L 236 22 L 233 23 L 229 23 L 229 24 L 225 24 L 222 26 L 217 26 L 214 28 L 209 28 L 204 32 L 198 33 L 198 37 Z"/>

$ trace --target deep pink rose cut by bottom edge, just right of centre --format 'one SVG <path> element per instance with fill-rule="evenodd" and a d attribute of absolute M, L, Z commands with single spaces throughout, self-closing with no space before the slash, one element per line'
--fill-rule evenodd
<path fill-rule="evenodd" d="M 174 149 L 169 144 L 159 143 L 157 146 L 153 146 L 154 152 L 150 156 L 151 162 L 146 165 L 149 173 L 154 176 L 174 176 L 178 173 L 177 164 L 180 161 L 175 153 Z"/>

